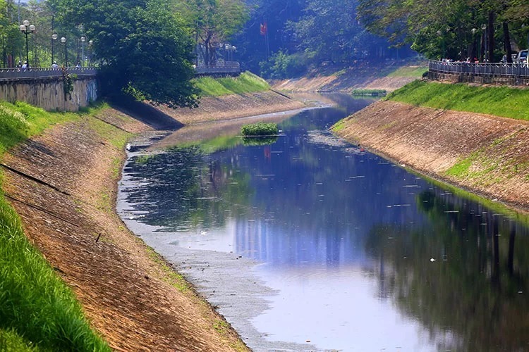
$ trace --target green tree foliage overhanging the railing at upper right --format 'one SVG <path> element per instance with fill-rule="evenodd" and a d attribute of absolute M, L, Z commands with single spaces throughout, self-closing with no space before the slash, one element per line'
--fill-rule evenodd
<path fill-rule="evenodd" d="M 524 0 L 359 0 L 358 18 L 395 45 L 412 44 L 429 58 L 497 62 L 527 47 L 529 4 Z"/>

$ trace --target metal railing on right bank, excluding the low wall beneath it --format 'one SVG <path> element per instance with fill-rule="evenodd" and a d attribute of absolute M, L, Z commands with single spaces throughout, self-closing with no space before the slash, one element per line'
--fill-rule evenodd
<path fill-rule="evenodd" d="M 527 63 L 465 63 L 449 61 L 430 61 L 430 72 L 454 73 L 458 75 L 529 77 Z"/>

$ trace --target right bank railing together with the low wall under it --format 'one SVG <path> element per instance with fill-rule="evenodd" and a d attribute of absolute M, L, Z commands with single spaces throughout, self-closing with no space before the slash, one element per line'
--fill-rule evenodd
<path fill-rule="evenodd" d="M 527 85 L 529 84 L 529 65 L 527 63 L 430 61 L 428 77 L 431 80 Z"/>

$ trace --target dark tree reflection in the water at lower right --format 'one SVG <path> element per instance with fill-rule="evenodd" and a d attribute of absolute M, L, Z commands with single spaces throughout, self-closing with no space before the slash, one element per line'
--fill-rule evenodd
<path fill-rule="evenodd" d="M 527 350 L 528 229 L 440 192 L 418 194 L 428 227 L 370 231 L 381 296 L 393 297 L 431 334 L 452 332 L 456 346 L 445 346 L 452 351 Z"/>

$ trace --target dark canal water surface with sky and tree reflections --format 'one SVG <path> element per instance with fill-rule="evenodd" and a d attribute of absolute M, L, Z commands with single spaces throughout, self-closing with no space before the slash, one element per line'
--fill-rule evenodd
<path fill-rule="evenodd" d="M 527 220 L 332 137 L 368 103 L 334 99 L 280 122 L 272 144 L 229 134 L 133 156 L 123 217 L 168 256 L 261 263 L 274 294 L 244 322 L 257 351 L 529 350 Z"/>

